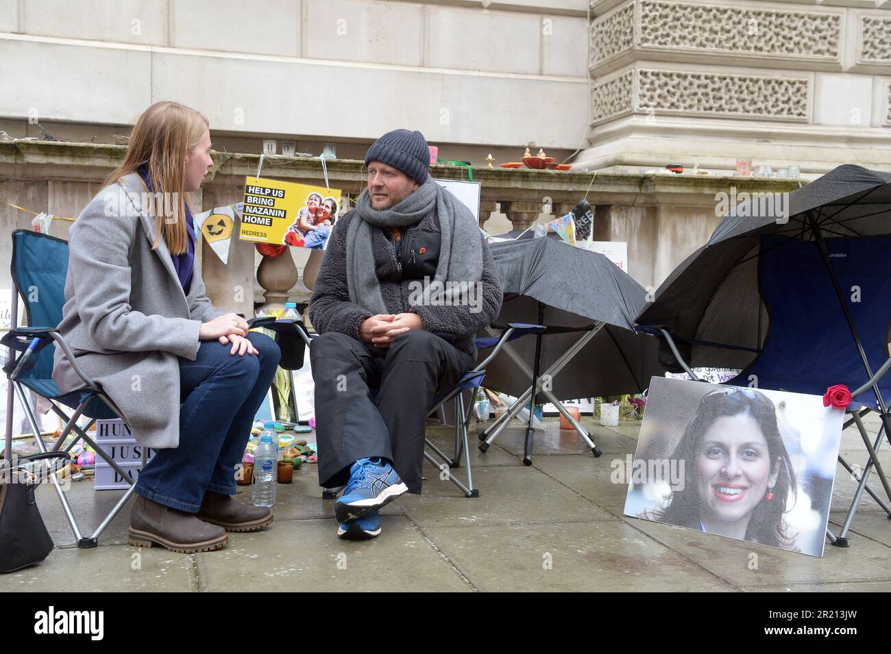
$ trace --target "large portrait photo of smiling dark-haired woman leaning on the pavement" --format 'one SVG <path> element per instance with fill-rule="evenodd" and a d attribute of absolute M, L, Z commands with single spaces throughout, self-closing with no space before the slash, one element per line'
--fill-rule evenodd
<path fill-rule="evenodd" d="M 821 556 L 843 415 L 818 396 L 654 378 L 625 514 Z"/>

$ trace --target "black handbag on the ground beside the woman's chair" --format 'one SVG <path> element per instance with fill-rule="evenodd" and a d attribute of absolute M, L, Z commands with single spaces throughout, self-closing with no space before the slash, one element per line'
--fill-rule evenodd
<path fill-rule="evenodd" d="M 22 465 L 48 458 L 67 460 L 69 456 L 65 452 L 46 452 L 4 461 L 0 467 L 0 572 L 27 568 L 53 551 L 53 539 L 34 498 L 40 477 L 53 471 L 42 465 Z"/>

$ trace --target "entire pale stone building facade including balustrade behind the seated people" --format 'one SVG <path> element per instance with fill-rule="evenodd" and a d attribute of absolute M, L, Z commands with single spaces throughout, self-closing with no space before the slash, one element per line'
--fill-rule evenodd
<path fill-rule="evenodd" d="M 842 163 L 891 170 L 891 0 L 90 6 L 0 0 L 0 77 L 8 82 L 0 93 L 0 199 L 14 205 L 76 216 L 120 156 L 101 144 L 119 141 L 161 99 L 204 112 L 217 156 L 241 161 L 208 183 L 205 206 L 240 196 L 243 175 L 257 166 L 245 157 L 265 140 L 282 152 L 295 141 L 313 155 L 333 143 L 339 159 L 356 160 L 381 133 L 411 126 L 440 158 L 475 167 L 486 230 L 552 220 L 590 193 L 595 237 L 626 241 L 631 274 L 656 287 L 707 240 L 720 219 L 716 193 L 796 185 L 722 176 L 738 159 L 799 166 L 805 179 Z M 45 133 L 72 142 L 47 147 Z M 568 159 L 572 173 L 497 168 L 527 146 Z M 490 153 L 495 170 L 486 168 Z M 322 183 L 312 161 L 312 170 L 312 162 L 278 162 L 265 174 Z M 718 174 L 647 173 L 669 163 Z M 330 169 L 337 166 L 346 166 L 350 192 L 361 188 L 359 162 Z M 7 234 L 31 218 L 0 203 Z M 68 224 L 54 222 L 53 233 L 65 237 Z M 308 253 L 292 250 L 303 270 Z M 8 260 L 0 240 L 0 262 Z M 223 289 L 249 287 L 258 261 L 245 242 L 228 265 L 208 262 L 215 299 L 233 306 Z M 8 268 L 0 269 L 2 287 Z M 254 291 L 262 301 L 263 289 Z M 250 308 L 245 295 L 239 311 Z"/>

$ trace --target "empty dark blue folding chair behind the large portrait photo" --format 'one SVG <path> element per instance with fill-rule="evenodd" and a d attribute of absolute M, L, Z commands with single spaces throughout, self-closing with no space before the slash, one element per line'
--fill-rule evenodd
<path fill-rule="evenodd" d="M 850 417 L 845 428 L 856 424 L 869 459 L 861 469 L 838 456 L 838 463 L 854 476 L 858 486 L 838 536 L 827 533 L 833 545 L 847 546 L 863 492 L 869 493 L 891 517 L 887 499 L 867 485 L 875 468 L 885 496 L 891 498 L 891 485 L 876 456 L 887 427 L 887 415 L 882 415 L 881 405 L 887 405 L 885 400 L 891 398 L 891 375 L 886 375 L 891 368 L 891 274 L 885 259 L 891 250 L 891 237 L 829 238 L 825 244 L 832 262 L 829 274 L 821 251 L 813 242 L 779 235 L 762 239 L 758 289 L 770 316 L 770 328 L 761 346 L 753 350 L 756 358 L 726 384 L 813 395 L 822 395 L 835 384 L 852 389 L 855 401 L 848 408 Z M 844 311 L 838 309 L 837 288 L 845 289 Z M 684 360 L 677 343 L 749 349 L 678 338 L 665 327 L 641 330 L 663 338 L 674 359 L 693 379 L 697 375 Z M 871 374 L 873 370 L 875 374 Z M 862 424 L 862 416 L 870 411 L 883 418 L 878 438 L 873 442 Z"/>

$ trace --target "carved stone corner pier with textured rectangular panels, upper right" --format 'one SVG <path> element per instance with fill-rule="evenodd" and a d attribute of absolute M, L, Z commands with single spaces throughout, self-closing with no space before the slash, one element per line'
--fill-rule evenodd
<path fill-rule="evenodd" d="M 592 0 L 591 169 L 891 167 L 891 2 Z"/>

